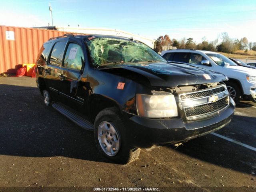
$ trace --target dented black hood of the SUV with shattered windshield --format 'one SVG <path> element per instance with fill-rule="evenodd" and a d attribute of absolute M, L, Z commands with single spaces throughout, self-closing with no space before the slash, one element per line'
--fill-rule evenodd
<path fill-rule="evenodd" d="M 136 64 L 113 64 L 101 67 L 99 70 L 111 70 L 122 68 L 145 76 L 151 86 L 177 87 L 182 85 L 204 84 L 221 82 L 227 77 L 221 73 L 193 67 L 190 65 L 180 65 L 172 63 L 136 63 Z"/>

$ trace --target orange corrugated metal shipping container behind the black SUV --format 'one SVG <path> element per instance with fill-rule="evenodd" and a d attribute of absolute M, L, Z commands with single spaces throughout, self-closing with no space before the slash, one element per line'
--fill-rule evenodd
<path fill-rule="evenodd" d="M 0 25 L 0 74 L 16 73 L 24 63 L 33 64 L 48 39 L 67 32 Z"/>

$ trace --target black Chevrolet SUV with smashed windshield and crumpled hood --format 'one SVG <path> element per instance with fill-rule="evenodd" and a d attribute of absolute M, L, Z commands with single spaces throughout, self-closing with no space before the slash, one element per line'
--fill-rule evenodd
<path fill-rule="evenodd" d="M 166 63 L 145 44 L 118 36 L 52 38 L 36 61 L 45 104 L 94 131 L 98 150 L 122 164 L 136 160 L 140 148 L 226 126 L 235 104 L 225 80 L 220 73 Z"/>

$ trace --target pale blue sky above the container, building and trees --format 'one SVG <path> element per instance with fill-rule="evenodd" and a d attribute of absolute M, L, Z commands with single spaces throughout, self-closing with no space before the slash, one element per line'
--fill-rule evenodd
<path fill-rule="evenodd" d="M 256 0 L 6 0 L 0 25 L 114 28 L 152 39 L 203 37 L 221 32 L 256 42 Z"/>

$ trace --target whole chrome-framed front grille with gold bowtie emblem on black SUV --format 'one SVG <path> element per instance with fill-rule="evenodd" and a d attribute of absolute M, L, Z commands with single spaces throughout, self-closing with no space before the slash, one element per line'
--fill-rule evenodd
<path fill-rule="evenodd" d="M 178 96 L 187 120 L 217 114 L 229 105 L 229 94 L 224 85 Z"/>

